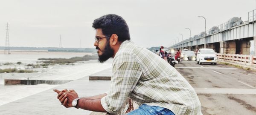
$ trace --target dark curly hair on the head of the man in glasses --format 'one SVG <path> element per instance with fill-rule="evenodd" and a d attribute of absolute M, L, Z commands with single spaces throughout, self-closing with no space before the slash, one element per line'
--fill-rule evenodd
<path fill-rule="evenodd" d="M 105 36 L 116 34 L 120 42 L 131 39 L 127 23 L 116 14 L 107 14 L 94 20 L 93 28 L 102 29 Z"/>

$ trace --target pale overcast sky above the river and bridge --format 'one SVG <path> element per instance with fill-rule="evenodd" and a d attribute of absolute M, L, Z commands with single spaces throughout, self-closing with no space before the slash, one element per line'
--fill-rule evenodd
<path fill-rule="evenodd" d="M 131 40 L 140 46 L 169 47 L 227 22 L 247 20 L 256 0 L 0 0 L 0 46 L 9 23 L 10 46 L 94 48 L 93 20 L 105 14 L 123 17 Z M 253 44 L 251 44 L 253 45 Z"/>

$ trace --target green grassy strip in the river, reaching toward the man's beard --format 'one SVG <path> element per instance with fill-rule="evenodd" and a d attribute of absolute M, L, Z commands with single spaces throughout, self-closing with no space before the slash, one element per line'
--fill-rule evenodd
<path fill-rule="evenodd" d="M 47 64 L 61 64 L 64 65 L 66 63 L 75 63 L 77 61 L 85 61 L 85 60 L 96 60 L 98 56 L 96 55 L 85 55 L 83 57 L 73 57 L 69 59 L 65 58 L 39 58 L 38 60 L 45 60 L 42 61 L 43 63 Z"/>

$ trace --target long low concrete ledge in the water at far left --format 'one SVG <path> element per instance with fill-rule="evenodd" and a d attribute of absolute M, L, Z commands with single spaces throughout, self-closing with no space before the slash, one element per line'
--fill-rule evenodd
<path fill-rule="evenodd" d="M 5 79 L 4 84 L 5 85 L 37 85 L 37 84 L 50 84 L 50 85 L 56 85 L 56 84 L 64 84 L 67 82 L 70 82 L 72 80 L 14 80 L 14 79 Z"/>

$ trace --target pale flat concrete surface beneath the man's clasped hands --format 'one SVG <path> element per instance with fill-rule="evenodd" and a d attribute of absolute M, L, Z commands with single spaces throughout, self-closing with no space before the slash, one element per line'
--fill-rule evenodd
<path fill-rule="evenodd" d="M 109 69 L 106 69 L 96 75 L 105 76 L 108 72 Z M 110 80 L 89 80 L 89 76 L 85 76 L 52 89 L 66 88 L 74 89 L 79 97 L 93 96 L 107 92 L 110 88 Z M 91 113 L 83 109 L 65 108 L 52 89 L 4 104 L 0 106 L 0 115 L 89 115 Z"/>

